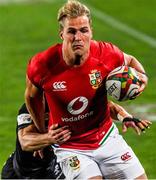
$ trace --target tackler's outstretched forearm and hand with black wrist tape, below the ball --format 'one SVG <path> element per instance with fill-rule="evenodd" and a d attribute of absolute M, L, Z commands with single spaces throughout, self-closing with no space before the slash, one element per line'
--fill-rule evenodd
<path fill-rule="evenodd" d="M 122 131 L 126 132 L 127 128 L 132 127 L 138 135 L 145 132 L 146 128 L 152 124 L 149 120 L 141 120 L 133 117 L 120 105 L 109 101 L 110 114 L 112 119 L 122 122 Z"/>

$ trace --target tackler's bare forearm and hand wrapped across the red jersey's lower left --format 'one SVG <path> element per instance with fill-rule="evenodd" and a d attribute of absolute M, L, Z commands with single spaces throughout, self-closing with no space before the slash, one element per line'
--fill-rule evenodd
<path fill-rule="evenodd" d="M 38 133 L 34 124 L 18 131 L 18 138 L 24 151 L 35 151 L 51 144 L 62 144 L 71 136 L 67 126 L 58 128 L 58 124 L 50 127 L 47 133 Z"/>

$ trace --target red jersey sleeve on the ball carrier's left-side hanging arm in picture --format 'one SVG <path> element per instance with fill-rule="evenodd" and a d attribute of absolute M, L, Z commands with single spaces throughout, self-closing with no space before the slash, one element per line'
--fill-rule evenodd
<path fill-rule="evenodd" d="M 36 87 L 42 87 L 42 80 L 44 77 L 45 65 L 43 63 L 42 53 L 36 54 L 32 57 L 27 66 L 27 76 L 28 79 L 34 84 Z"/>

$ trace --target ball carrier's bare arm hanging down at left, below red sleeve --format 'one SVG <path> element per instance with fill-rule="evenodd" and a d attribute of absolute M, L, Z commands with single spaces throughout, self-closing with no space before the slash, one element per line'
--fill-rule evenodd
<path fill-rule="evenodd" d="M 38 131 L 45 132 L 45 103 L 43 98 L 43 91 L 33 85 L 28 77 L 26 77 L 25 102 Z"/>

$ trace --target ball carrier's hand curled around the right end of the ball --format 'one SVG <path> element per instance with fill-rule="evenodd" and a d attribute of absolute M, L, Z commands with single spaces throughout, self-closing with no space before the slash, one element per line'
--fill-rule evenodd
<path fill-rule="evenodd" d="M 143 73 L 140 73 L 138 72 L 138 76 L 139 76 L 139 80 L 141 82 L 141 86 L 139 88 L 139 91 L 138 91 L 138 95 L 140 95 L 140 93 L 142 93 L 145 89 L 145 87 L 147 86 L 147 83 L 148 83 L 148 77 L 146 74 L 143 74 Z"/>

